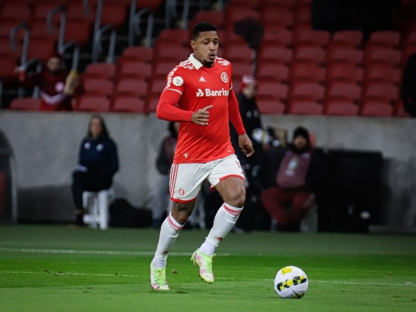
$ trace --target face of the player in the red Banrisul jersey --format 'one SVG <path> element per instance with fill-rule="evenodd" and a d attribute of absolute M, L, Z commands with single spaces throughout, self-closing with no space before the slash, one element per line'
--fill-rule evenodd
<path fill-rule="evenodd" d="M 218 33 L 216 31 L 203 31 L 196 41 L 191 40 L 193 56 L 204 66 L 211 67 L 218 53 Z"/>

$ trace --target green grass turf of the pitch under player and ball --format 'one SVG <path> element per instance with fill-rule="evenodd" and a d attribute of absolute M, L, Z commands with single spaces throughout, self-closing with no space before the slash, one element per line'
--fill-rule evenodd
<path fill-rule="evenodd" d="M 150 290 L 153 229 L 0 227 L 0 311 L 416 311 L 416 236 L 254 232 L 216 250 L 214 284 L 189 257 L 207 231 L 183 230 L 171 291 Z M 310 279 L 300 300 L 273 289 L 279 268 Z"/>

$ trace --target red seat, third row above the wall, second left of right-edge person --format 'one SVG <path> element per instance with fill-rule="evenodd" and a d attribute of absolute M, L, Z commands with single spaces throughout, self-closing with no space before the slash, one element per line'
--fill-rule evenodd
<path fill-rule="evenodd" d="M 351 62 L 331 62 L 327 67 L 327 80 L 345 83 L 363 83 L 364 70 Z"/>

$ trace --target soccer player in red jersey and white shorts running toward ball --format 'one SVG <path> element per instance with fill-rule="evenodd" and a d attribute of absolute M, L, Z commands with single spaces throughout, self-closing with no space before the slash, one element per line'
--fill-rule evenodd
<path fill-rule="evenodd" d="M 150 264 L 153 289 L 169 289 L 167 254 L 195 207 L 203 180 L 207 178 L 224 200 L 205 242 L 191 257 L 207 283 L 214 282 L 214 251 L 236 223 L 245 202 L 245 180 L 229 139 L 229 120 L 239 135 L 243 154 L 250 157 L 254 149 L 232 91 L 232 65 L 216 55 L 218 42 L 213 24 L 202 21 L 193 26 L 193 54 L 168 73 L 157 105 L 157 117 L 180 121 L 180 128 L 169 186 L 173 208 L 162 223 Z"/>

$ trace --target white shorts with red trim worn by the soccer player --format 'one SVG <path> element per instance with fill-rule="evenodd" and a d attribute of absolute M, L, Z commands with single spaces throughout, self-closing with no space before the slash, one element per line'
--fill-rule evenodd
<path fill-rule="evenodd" d="M 235 154 L 203 164 L 173 164 L 169 182 L 171 200 L 192 202 L 196 200 L 205 179 L 215 187 L 227 177 L 240 177 L 245 180 L 240 161 Z"/>

